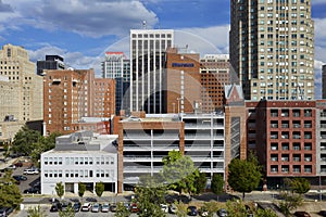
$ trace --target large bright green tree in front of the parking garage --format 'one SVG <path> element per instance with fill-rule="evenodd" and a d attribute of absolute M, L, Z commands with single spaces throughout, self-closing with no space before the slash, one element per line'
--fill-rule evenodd
<path fill-rule="evenodd" d="M 190 156 L 184 156 L 178 151 L 170 151 L 168 155 L 163 157 L 163 170 L 161 177 L 168 188 L 179 193 L 197 192 L 195 180 L 199 176 L 199 170 L 195 168 Z"/>

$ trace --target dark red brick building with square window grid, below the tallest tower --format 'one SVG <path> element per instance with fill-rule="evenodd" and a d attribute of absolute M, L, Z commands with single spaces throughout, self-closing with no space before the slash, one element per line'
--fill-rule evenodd
<path fill-rule="evenodd" d="M 316 101 L 248 101 L 249 150 L 258 153 L 267 184 L 316 177 Z"/>

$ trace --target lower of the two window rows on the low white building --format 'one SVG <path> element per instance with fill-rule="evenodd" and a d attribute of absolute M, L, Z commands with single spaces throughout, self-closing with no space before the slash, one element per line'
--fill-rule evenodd
<path fill-rule="evenodd" d="M 75 170 L 45 170 L 45 178 L 62 178 L 63 173 L 65 178 L 109 178 L 114 177 L 114 170 L 108 169 L 97 169 L 97 170 L 88 170 L 88 169 L 75 169 Z"/>

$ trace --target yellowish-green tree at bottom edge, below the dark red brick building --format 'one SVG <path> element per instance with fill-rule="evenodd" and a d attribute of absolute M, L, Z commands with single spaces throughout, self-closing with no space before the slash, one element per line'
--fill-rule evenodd
<path fill-rule="evenodd" d="M 283 200 L 278 205 L 281 213 L 287 217 L 291 216 L 291 212 L 301 206 L 303 202 L 300 194 L 289 194 L 288 192 L 284 192 L 280 196 Z"/>

